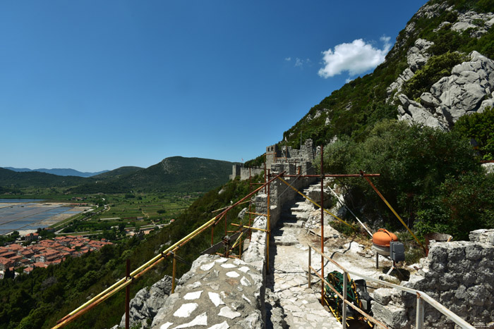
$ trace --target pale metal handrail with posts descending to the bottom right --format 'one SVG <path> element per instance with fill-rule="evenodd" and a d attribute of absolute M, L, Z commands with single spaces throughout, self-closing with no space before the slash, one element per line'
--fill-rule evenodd
<path fill-rule="evenodd" d="M 351 302 L 349 302 L 349 300 L 346 298 L 347 297 L 346 293 L 339 294 L 339 292 L 337 292 L 336 288 L 333 287 L 332 285 L 330 285 L 330 283 L 328 283 L 327 280 L 325 280 L 325 278 L 323 278 L 323 276 L 320 275 L 318 273 L 318 271 L 315 270 L 315 268 L 313 268 L 311 266 L 312 250 L 314 250 L 316 253 L 323 256 L 325 259 L 327 259 L 328 261 L 330 261 L 331 263 L 333 263 L 335 266 L 337 266 L 339 269 L 341 269 L 343 271 L 343 280 L 344 280 L 343 281 L 343 292 L 347 292 L 347 284 L 348 284 L 347 278 L 348 278 L 348 274 L 351 274 L 351 275 L 354 275 L 356 277 L 363 278 L 367 281 L 379 283 L 379 284 L 385 285 L 387 287 L 392 287 L 392 288 L 395 288 L 397 290 L 401 290 L 404 292 L 409 292 L 411 294 L 415 294 L 417 297 L 416 321 L 415 321 L 415 328 L 416 329 L 423 329 L 424 328 L 423 327 L 423 318 L 424 318 L 425 314 L 424 314 L 423 302 L 427 302 L 430 306 L 433 306 L 435 309 L 440 311 L 442 314 L 444 314 L 451 321 L 453 321 L 454 323 L 459 325 L 460 328 L 475 329 L 474 326 L 472 326 L 469 323 L 467 323 L 466 321 L 464 321 L 462 318 L 457 316 L 457 314 L 454 314 L 452 311 L 447 309 L 445 306 L 443 306 L 439 302 L 435 301 L 435 299 L 432 299 L 428 294 L 426 294 L 426 292 L 422 292 L 420 290 L 415 290 L 415 289 L 411 289 L 411 288 L 407 288 L 407 287 L 402 287 L 401 285 L 394 285 L 392 283 L 387 283 L 386 281 L 383 281 L 383 280 L 370 278 L 366 275 L 359 274 L 356 271 L 348 270 L 347 268 L 344 268 L 343 266 L 339 265 L 339 263 L 337 263 L 336 261 L 331 259 L 329 256 L 327 256 L 323 252 L 320 252 L 318 249 L 316 249 L 312 245 L 309 244 L 308 247 L 309 247 L 309 249 L 308 249 L 308 285 L 309 285 L 309 287 L 311 287 L 311 275 L 312 275 L 311 273 L 314 272 L 322 280 L 323 283 L 325 283 L 328 287 L 330 287 L 330 289 L 333 292 L 335 292 L 339 298 L 342 299 L 343 305 L 344 304 L 349 305 L 352 309 L 355 309 L 356 311 L 358 311 L 360 314 L 362 314 L 363 316 L 368 318 L 373 323 L 380 325 L 380 327 L 382 327 L 382 328 L 387 328 L 387 327 L 386 327 L 386 325 L 384 325 L 380 321 L 376 320 L 375 318 L 373 318 L 369 314 L 366 314 L 366 312 L 359 309 L 359 307 L 355 306 L 354 304 L 351 304 Z M 347 307 L 342 307 L 342 309 L 343 309 L 343 311 L 342 311 L 342 328 L 347 328 Z"/>

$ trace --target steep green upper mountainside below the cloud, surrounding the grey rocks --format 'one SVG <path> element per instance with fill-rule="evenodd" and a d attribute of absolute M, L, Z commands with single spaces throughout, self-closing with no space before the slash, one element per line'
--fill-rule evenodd
<path fill-rule="evenodd" d="M 492 0 L 429 1 L 428 5 L 445 3 L 447 3 L 445 8 L 453 6 L 452 9 L 459 13 L 494 11 Z M 447 63 L 444 55 L 448 52 L 460 51 L 463 54 L 469 54 L 470 51 L 476 50 L 488 58 L 494 58 L 494 27 L 490 27 L 488 32 L 480 38 L 471 37 L 471 33 L 475 32 L 474 28 L 464 32 L 454 31 L 451 25 L 457 21 L 458 15 L 445 8 L 439 10 L 438 15 L 433 18 L 428 18 L 426 15 L 420 17 L 417 14 L 414 15 L 408 23 L 414 28 L 409 31 L 402 30 L 399 33 L 396 44 L 387 54 L 384 63 L 375 68 L 373 73 L 357 77 L 313 106 L 306 116 L 284 132 L 282 140 L 286 137 L 291 147 L 298 148 L 300 136 L 303 140 L 313 139 L 315 145 L 326 144 L 335 136 L 346 135 L 359 138 L 379 120 L 397 118 L 397 104 L 392 104 L 387 98 L 386 89 L 408 67 L 407 51 L 419 38 L 434 42 L 428 50 L 432 58 L 438 56 L 443 56 L 443 58 L 435 61 L 435 67 L 423 68 L 408 82 L 405 86 L 405 93 L 409 97 L 416 97 L 423 87 L 430 87 L 430 82 L 439 80 L 441 76 L 449 75 L 452 66 L 458 61 Z M 434 32 L 445 21 L 450 25 Z M 439 69 L 435 70 L 435 68 Z"/>

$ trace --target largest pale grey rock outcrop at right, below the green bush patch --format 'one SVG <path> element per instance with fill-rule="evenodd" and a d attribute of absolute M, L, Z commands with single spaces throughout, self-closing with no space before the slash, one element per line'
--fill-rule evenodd
<path fill-rule="evenodd" d="M 454 66 L 450 76 L 442 77 L 430 92 L 424 92 L 420 103 L 398 94 L 399 120 L 449 130 L 461 116 L 492 107 L 494 61 L 477 51 L 469 56 L 469 61 Z"/>

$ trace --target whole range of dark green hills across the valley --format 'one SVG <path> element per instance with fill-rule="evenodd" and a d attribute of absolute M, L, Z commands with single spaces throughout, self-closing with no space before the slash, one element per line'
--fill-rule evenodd
<path fill-rule="evenodd" d="M 148 168 L 126 166 L 88 178 L 0 168 L 0 186 L 8 189 L 62 187 L 71 193 L 207 192 L 229 180 L 233 164 L 173 156 Z"/>

